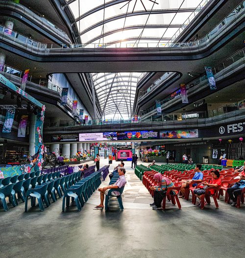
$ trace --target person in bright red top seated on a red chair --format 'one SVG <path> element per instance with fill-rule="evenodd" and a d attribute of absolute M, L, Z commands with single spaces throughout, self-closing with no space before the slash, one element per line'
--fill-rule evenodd
<path fill-rule="evenodd" d="M 204 181 L 200 186 L 198 186 L 198 188 L 196 188 L 194 190 L 194 194 L 196 195 L 196 197 L 201 200 L 201 195 L 205 194 L 205 191 L 208 187 L 218 187 L 221 185 L 221 179 L 220 179 L 220 172 L 219 170 L 214 170 L 211 172 L 213 178 L 209 180 L 209 183 L 207 183 L 206 181 Z M 215 193 L 214 189 L 210 190 L 210 193 L 213 195 Z M 207 202 L 204 202 L 204 205 L 206 205 Z M 201 201 L 198 202 L 197 206 L 201 205 Z"/>

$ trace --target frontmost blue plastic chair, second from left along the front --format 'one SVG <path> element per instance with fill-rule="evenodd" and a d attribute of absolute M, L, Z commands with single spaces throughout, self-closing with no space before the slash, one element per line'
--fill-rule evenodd
<path fill-rule="evenodd" d="M 47 188 L 48 184 L 42 185 L 41 187 L 28 189 L 25 196 L 25 211 L 27 211 L 28 197 L 31 198 L 31 207 L 36 205 L 36 199 L 38 200 L 39 208 L 44 211 L 43 199 L 47 207 L 49 207 L 49 202 L 47 199 Z"/>

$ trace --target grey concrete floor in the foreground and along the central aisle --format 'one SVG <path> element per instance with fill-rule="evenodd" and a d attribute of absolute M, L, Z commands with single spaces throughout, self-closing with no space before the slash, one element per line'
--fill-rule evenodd
<path fill-rule="evenodd" d="M 125 165 L 124 211 L 117 200 L 106 212 L 93 210 L 97 192 L 82 211 L 72 206 L 62 212 L 61 199 L 43 212 L 30 203 L 28 212 L 24 203 L 9 205 L 8 212 L 0 208 L 0 258 L 245 257 L 245 205 L 233 208 L 221 198 L 220 209 L 211 203 L 200 210 L 181 200 L 181 210 L 167 202 L 168 210 L 153 211 L 152 198 L 130 165 Z"/>

